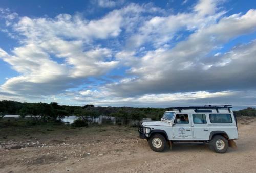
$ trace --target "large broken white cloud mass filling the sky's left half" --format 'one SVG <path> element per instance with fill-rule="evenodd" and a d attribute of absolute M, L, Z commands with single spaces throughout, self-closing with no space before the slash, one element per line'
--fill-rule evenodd
<path fill-rule="evenodd" d="M 112 49 L 95 42 L 117 37 L 121 27 L 143 10 L 131 4 L 97 20 L 69 14 L 55 18 L 20 17 L 12 27 L 21 45 L 9 54 L 0 48 L 0 58 L 20 76 L 8 79 L 0 89 L 41 96 L 76 87 L 88 77 L 104 75 L 119 61 L 113 57 Z M 9 13 L 5 15 L 12 18 Z"/>

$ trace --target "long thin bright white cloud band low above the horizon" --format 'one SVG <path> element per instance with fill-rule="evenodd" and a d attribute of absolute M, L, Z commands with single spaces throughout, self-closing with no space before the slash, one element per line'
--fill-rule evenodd
<path fill-rule="evenodd" d="M 121 105 L 131 106 L 133 104 L 155 104 L 160 107 L 167 107 L 170 103 L 188 103 L 197 100 L 225 98 L 240 94 L 240 92 L 221 91 L 221 92 L 182 92 L 175 94 L 145 94 L 138 97 L 113 97 L 108 93 L 100 93 L 99 91 L 85 90 L 79 93 L 73 93 L 74 100 L 79 102 L 87 102 L 95 105 Z M 79 95 L 80 94 L 80 95 Z M 100 96 L 99 96 L 100 95 Z M 161 105 L 162 104 L 162 105 Z"/>

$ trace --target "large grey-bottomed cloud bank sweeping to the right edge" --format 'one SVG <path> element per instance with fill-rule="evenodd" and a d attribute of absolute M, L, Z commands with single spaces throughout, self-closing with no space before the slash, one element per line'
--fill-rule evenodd
<path fill-rule="evenodd" d="M 219 22 L 197 30 L 170 50 L 158 48 L 154 51 L 148 51 L 129 70 L 131 75 L 138 78 L 130 83 L 109 84 L 105 89 L 120 96 L 174 93 L 188 90 L 237 89 L 241 87 L 240 83 L 232 80 L 237 78 L 239 81 L 248 81 L 250 85 L 247 87 L 251 87 L 255 84 L 253 76 L 256 71 L 251 68 L 251 72 L 247 73 L 247 70 L 251 67 L 250 64 L 256 64 L 254 58 L 255 42 L 235 49 L 236 54 L 229 54 L 233 58 L 216 61 L 216 56 L 209 58 L 207 55 L 232 38 L 255 32 L 255 15 L 256 10 L 249 10 L 244 15 L 223 17 Z M 247 53 L 246 56 L 244 52 Z M 247 61 L 244 61 L 245 58 Z M 187 83 L 191 84 L 188 85 Z"/>

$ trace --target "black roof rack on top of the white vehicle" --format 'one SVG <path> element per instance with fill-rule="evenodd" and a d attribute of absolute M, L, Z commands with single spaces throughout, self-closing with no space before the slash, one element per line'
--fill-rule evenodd
<path fill-rule="evenodd" d="M 169 107 L 166 109 L 178 109 L 179 112 L 181 112 L 182 109 L 195 109 L 195 112 L 197 109 L 216 109 L 217 112 L 219 112 L 218 109 L 228 109 L 228 112 L 230 113 L 230 108 L 232 108 L 232 105 L 204 105 L 204 106 L 183 106 L 183 107 Z"/>

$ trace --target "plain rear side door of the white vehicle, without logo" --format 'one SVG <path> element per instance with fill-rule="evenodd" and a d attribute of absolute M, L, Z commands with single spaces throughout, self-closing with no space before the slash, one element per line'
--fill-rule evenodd
<path fill-rule="evenodd" d="M 205 114 L 192 114 L 193 137 L 197 140 L 209 140 L 210 128 Z"/>

